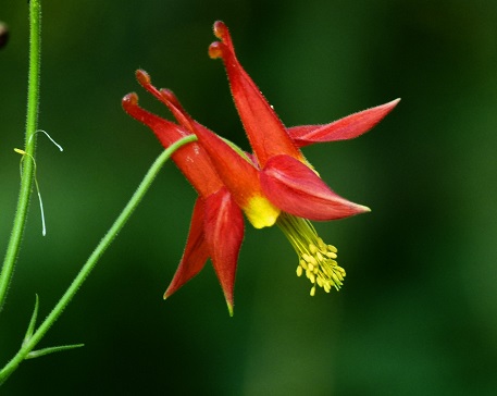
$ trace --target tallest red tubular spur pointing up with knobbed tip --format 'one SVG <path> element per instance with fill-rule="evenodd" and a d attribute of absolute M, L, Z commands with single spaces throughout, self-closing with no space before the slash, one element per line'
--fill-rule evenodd
<path fill-rule="evenodd" d="M 224 61 L 235 106 L 259 163 L 263 166 L 272 156 L 278 153 L 303 160 L 301 152 L 285 132 L 282 121 L 239 64 L 226 25 L 218 21 L 214 24 L 214 34 L 223 42 L 211 44 L 209 54 Z"/>

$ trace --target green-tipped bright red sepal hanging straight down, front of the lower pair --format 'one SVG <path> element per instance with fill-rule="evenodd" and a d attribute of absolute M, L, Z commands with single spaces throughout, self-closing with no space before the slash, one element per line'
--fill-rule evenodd
<path fill-rule="evenodd" d="M 206 200 L 206 240 L 224 298 L 233 315 L 238 252 L 244 239 L 244 216 L 226 188 Z"/>

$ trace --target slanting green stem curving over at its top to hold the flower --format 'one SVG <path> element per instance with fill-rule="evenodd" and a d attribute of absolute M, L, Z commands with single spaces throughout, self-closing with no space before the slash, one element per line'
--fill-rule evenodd
<path fill-rule="evenodd" d="M 32 0 L 33 1 L 33 0 Z M 184 137 L 183 139 L 176 141 L 175 144 L 171 145 L 166 150 L 164 150 L 159 158 L 156 160 L 156 162 L 152 164 L 150 170 L 147 172 L 145 178 L 138 186 L 138 189 L 136 193 L 133 195 L 132 199 L 126 205 L 124 210 L 121 212 L 120 216 L 116 219 L 112 227 L 108 231 L 105 236 L 102 238 L 100 244 L 97 246 L 97 248 L 94 250 L 91 256 L 88 258 L 86 261 L 85 265 L 83 265 L 82 270 L 77 274 L 77 276 L 74 279 L 73 283 L 71 286 L 67 288 L 67 290 L 64 293 L 64 295 L 61 297 L 57 306 L 52 309 L 52 311 L 49 313 L 49 315 L 45 319 L 45 321 L 40 324 L 38 330 L 33 334 L 29 339 L 27 339 L 21 349 L 18 350 L 17 355 L 15 355 L 12 360 L 0 371 L 0 384 L 5 381 L 5 379 L 17 368 L 17 366 L 26 359 L 27 355 L 33 350 L 33 348 L 39 343 L 39 341 L 44 337 L 44 335 L 47 333 L 47 331 L 50 329 L 50 326 L 58 320 L 62 311 L 65 309 L 65 307 L 69 305 L 69 302 L 72 300 L 74 295 L 77 293 L 79 286 L 85 282 L 86 277 L 89 275 L 91 270 L 95 268 L 95 264 L 97 261 L 100 259 L 100 257 L 103 255 L 105 249 L 109 247 L 109 245 L 112 243 L 114 237 L 117 235 L 117 233 L 122 230 L 126 221 L 129 219 L 132 215 L 133 211 L 135 208 L 138 206 L 140 202 L 141 198 L 145 196 L 145 193 L 147 193 L 148 188 L 150 187 L 151 183 L 153 182 L 156 175 L 162 168 L 162 165 L 169 160 L 169 158 L 176 151 L 179 147 L 183 145 L 186 145 L 190 141 L 196 140 L 197 137 L 195 135 L 190 135 L 187 137 Z"/>

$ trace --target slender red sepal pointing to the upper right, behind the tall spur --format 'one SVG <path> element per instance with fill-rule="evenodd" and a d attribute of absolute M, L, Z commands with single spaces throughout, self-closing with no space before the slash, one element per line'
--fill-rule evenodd
<path fill-rule="evenodd" d="M 287 128 L 298 147 L 314 143 L 352 139 L 370 131 L 400 101 L 395 99 L 358 113 L 350 114 L 326 125 L 302 125 Z"/>

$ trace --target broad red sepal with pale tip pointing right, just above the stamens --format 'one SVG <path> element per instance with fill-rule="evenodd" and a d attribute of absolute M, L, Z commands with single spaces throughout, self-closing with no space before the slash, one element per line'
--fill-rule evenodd
<path fill-rule="evenodd" d="M 300 218 L 335 220 L 369 211 L 333 193 L 311 169 L 288 156 L 271 158 L 260 180 L 273 205 Z"/>

